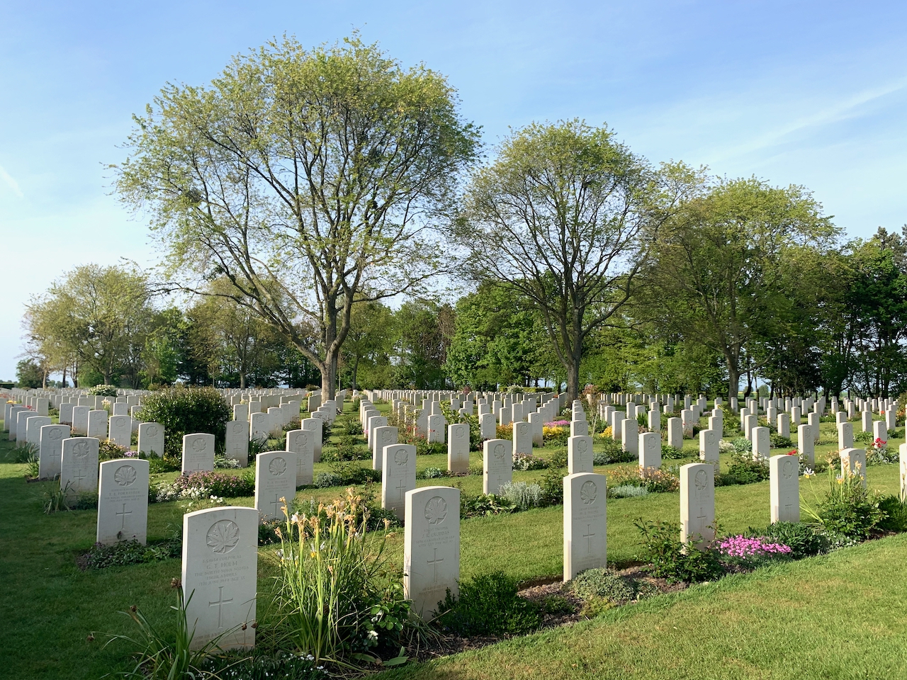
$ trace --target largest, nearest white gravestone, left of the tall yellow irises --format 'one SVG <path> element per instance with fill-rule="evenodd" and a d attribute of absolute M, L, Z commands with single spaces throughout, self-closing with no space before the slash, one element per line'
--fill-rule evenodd
<path fill-rule="evenodd" d="M 211 508 L 182 516 L 182 588 L 191 648 L 255 645 L 258 512 Z M 190 598 L 191 597 L 191 598 Z"/>

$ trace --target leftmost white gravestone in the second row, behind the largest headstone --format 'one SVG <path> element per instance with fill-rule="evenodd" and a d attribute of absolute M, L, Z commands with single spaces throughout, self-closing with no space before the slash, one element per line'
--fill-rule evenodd
<path fill-rule="evenodd" d="M 101 463 L 97 542 L 110 545 L 148 531 L 148 461 L 119 458 Z"/>

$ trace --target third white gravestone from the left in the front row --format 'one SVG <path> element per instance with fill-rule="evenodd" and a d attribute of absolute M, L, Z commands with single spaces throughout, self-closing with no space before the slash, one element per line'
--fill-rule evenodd
<path fill-rule="evenodd" d="M 569 581 L 580 571 L 608 562 L 607 478 L 579 472 L 564 477 L 564 573 Z"/>

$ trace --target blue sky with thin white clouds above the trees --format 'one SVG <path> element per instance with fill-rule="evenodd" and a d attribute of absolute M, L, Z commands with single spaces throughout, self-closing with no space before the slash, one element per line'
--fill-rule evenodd
<path fill-rule="evenodd" d="M 64 271 L 157 261 L 105 164 L 167 82 L 280 34 L 361 30 L 508 127 L 607 122 L 653 162 L 803 184 L 851 237 L 907 222 L 903 2 L 0 2 L 0 378 L 28 297 Z"/>

